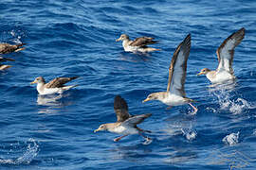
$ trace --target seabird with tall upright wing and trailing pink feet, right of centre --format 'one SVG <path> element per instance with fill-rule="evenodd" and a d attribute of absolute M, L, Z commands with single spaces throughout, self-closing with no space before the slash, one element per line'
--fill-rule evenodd
<path fill-rule="evenodd" d="M 191 103 L 193 102 L 193 100 L 186 97 L 186 93 L 184 90 L 187 71 L 187 60 L 190 55 L 190 49 L 191 34 L 189 34 L 184 39 L 184 41 L 177 46 L 174 52 L 174 57 L 169 67 L 167 91 L 150 93 L 143 101 L 143 103 L 150 100 L 159 100 L 164 104 L 170 106 L 168 107 L 168 109 L 171 109 L 173 106 L 189 104 L 193 109 L 193 113 L 197 111 L 197 109 Z"/>

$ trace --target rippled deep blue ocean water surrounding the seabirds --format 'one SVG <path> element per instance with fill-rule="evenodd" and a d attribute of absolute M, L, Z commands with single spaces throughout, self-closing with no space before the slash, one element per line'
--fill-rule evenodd
<path fill-rule="evenodd" d="M 0 73 L 0 169 L 255 169 L 256 2 L 1 0 L 0 42 L 25 42 L 27 49 L 5 55 L 13 67 Z M 200 69 L 217 67 L 215 51 L 245 27 L 235 50 L 232 86 L 209 87 Z M 159 52 L 126 53 L 122 33 L 152 36 Z M 198 101 L 166 110 L 142 104 L 165 91 L 174 49 L 192 33 L 187 96 Z M 80 76 L 79 86 L 61 98 L 40 96 L 29 84 L 36 76 Z M 140 136 L 93 133 L 115 122 L 115 95 L 130 113 L 153 115 Z"/>

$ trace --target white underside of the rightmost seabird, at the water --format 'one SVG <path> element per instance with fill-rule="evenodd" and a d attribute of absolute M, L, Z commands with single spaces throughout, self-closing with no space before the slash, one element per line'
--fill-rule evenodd
<path fill-rule="evenodd" d="M 234 76 L 232 76 L 229 72 L 227 71 L 221 71 L 216 74 L 216 76 L 211 77 L 209 74 L 206 75 L 210 82 L 212 83 L 223 83 L 225 81 L 229 81 L 231 79 L 234 79 Z"/>

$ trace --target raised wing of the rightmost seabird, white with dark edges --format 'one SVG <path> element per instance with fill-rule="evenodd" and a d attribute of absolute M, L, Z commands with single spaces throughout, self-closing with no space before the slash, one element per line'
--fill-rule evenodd
<path fill-rule="evenodd" d="M 233 74 L 232 62 L 234 57 L 234 48 L 242 42 L 245 37 L 245 28 L 242 27 L 237 32 L 231 34 L 217 49 L 216 53 L 219 60 L 217 72 L 226 70 Z"/>

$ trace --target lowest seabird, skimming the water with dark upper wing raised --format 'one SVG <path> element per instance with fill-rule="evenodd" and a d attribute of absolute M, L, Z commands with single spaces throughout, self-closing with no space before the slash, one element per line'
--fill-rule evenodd
<path fill-rule="evenodd" d="M 144 121 L 144 119 L 150 117 L 152 115 L 151 113 L 139 114 L 139 115 L 129 114 L 127 103 L 123 98 L 121 98 L 120 95 L 117 95 L 115 97 L 114 110 L 117 114 L 117 122 L 102 124 L 98 129 L 94 130 L 94 132 L 107 130 L 113 133 L 122 134 L 122 136 L 114 139 L 114 142 L 117 142 L 121 138 L 131 134 L 139 134 L 146 141 L 150 141 L 150 138 L 145 137 L 142 134 L 143 132 L 150 132 L 150 131 L 143 130 L 137 127 L 137 124 L 140 124 L 141 122 Z"/>

